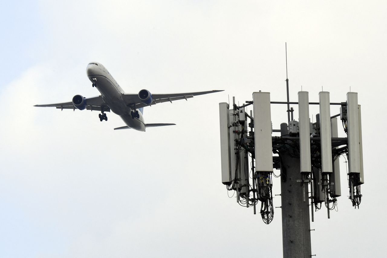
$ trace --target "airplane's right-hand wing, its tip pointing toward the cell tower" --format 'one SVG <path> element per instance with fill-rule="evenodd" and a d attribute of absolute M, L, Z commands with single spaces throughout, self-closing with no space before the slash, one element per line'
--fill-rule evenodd
<path fill-rule="evenodd" d="M 200 92 L 187 92 L 187 93 L 171 93 L 171 94 L 152 94 L 152 103 L 147 105 L 141 101 L 138 94 L 124 94 L 123 99 L 125 103 L 130 105 L 136 105 L 136 108 L 143 108 L 146 106 L 152 106 L 157 103 L 171 102 L 179 99 L 188 100 L 197 95 L 204 95 L 219 91 L 200 91 Z"/>

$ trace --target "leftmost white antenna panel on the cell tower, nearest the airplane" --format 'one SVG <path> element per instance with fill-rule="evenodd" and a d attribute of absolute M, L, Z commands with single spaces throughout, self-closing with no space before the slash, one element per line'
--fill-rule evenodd
<path fill-rule="evenodd" d="M 230 162 L 230 137 L 229 128 L 230 114 L 228 104 L 219 103 L 219 124 L 220 124 L 220 156 L 222 169 L 222 183 L 227 185 L 231 182 L 231 162 Z"/>

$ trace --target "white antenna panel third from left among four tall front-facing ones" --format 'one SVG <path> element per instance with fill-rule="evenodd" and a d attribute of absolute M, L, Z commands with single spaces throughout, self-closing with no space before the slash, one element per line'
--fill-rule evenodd
<path fill-rule="evenodd" d="M 329 92 L 319 92 L 320 103 L 320 144 L 321 172 L 332 173 L 332 142 L 330 135 L 330 101 Z"/>

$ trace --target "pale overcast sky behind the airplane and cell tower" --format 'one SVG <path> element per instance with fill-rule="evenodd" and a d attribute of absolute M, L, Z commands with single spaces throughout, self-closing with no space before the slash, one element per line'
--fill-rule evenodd
<path fill-rule="evenodd" d="M 301 85 L 331 102 L 351 87 L 362 105 L 360 210 L 342 162 L 339 211 L 315 213 L 312 254 L 385 257 L 386 13 L 385 1 L 3 1 L 0 257 L 282 257 L 281 210 L 266 225 L 221 183 L 218 103 L 286 100 L 285 42 L 291 101 Z M 147 123 L 177 124 L 146 133 L 114 131 L 113 113 L 33 107 L 99 95 L 92 61 L 130 93 L 225 91 L 145 108 Z M 274 128 L 285 110 L 272 106 Z"/>

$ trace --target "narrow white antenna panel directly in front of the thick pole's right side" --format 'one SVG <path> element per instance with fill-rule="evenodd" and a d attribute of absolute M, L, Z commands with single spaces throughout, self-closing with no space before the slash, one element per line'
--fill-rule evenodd
<path fill-rule="evenodd" d="M 298 119 L 300 130 L 300 168 L 301 173 L 310 173 L 310 118 L 309 118 L 309 93 L 298 92 Z"/>

